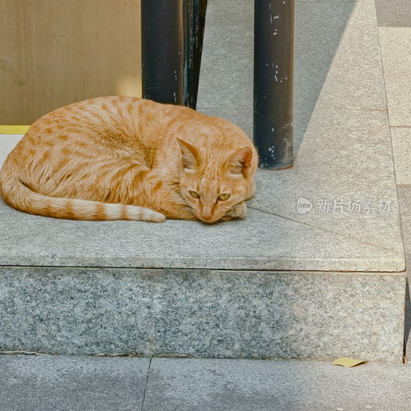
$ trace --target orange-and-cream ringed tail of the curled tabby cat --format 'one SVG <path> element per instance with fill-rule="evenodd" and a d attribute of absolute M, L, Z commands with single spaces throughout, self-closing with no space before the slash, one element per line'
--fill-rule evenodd
<path fill-rule="evenodd" d="M 0 172 L 0 193 L 16 210 L 72 220 L 138 220 L 161 222 L 165 216 L 148 208 L 73 198 L 47 197 L 30 190 L 16 176 Z"/>

